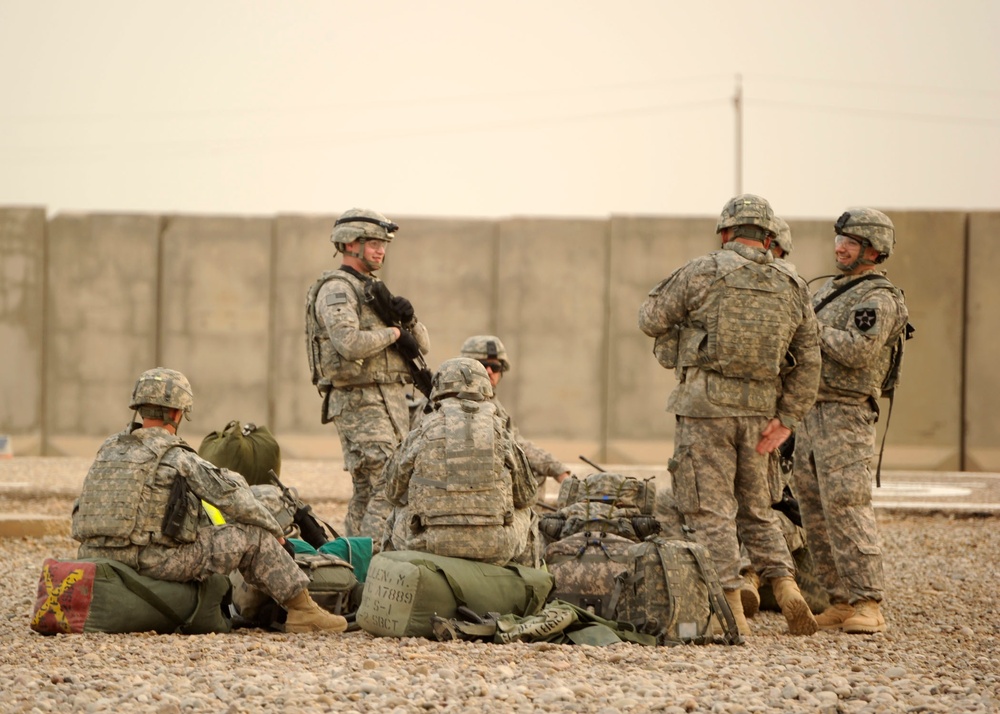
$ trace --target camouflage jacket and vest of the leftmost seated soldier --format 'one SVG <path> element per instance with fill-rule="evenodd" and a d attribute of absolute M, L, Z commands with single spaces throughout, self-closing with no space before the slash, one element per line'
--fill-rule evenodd
<path fill-rule="evenodd" d="M 148 463 L 149 454 L 158 455 L 159 462 L 141 482 L 132 479 L 130 483 L 129 477 L 140 463 Z M 218 508 L 227 523 L 258 526 L 277 538 L 283 536 L 277 521 L 254 497 L 241 475 L 205 461 L 183 439 L 162 427 L 134 430 L 129 427 L 104 442 L 84 479 L 73 515 L 73 535 L 82 543 L 80 557 L 103 556 L 132 563 L 144 546 L 181 545 L 181 541 L 162 530 L 170 493 L 178 477 L 185 480 L 191 494 L 189 522 L 184 528 L 191 540 L 198 527 L 210 525 L 200 507 L 201 500 Z M 133 489 L 138 489 L 138 493 L 130 493 Z M 121 504 L 132 505 L 123 509 Z M 115 521 L 131 524 L 127 536 L 113 532 L 122 532 Z"/>

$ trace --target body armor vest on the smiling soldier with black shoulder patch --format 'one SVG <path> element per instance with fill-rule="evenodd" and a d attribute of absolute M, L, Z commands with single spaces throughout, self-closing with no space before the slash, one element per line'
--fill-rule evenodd
<path fill-rule="evenodd" d="M 813 304 L 819 304 L 834 287 L 833 281 L 828 283 L 823 290 L 816 293 Z M 820 310 L 819 315 L 822 315 L 820 321 L 838 330 L 846 330 L 854 319 L 854 307 L 858 303 L 864 302 L 867 296 L 875 290 L 888 291 L 898 305 L 903 305 L 902 291 L 889 282 L 888 278 L 859 281 Z M 882 395 L 882 390 L 889 388 L 885 382 L 893 363 L 893 349 L 900 341 L 900 335 L 906 326 L 906 312 L 903 311 L 902 315 L 904 319 L 895 325 L 896 329 L 882 345 L 878 358 L 871 364 L 862 368 L 848 367 L 824 355 L 822 371 L 824 387 L 845 397 L 866 396 L 878 399 Z"/>

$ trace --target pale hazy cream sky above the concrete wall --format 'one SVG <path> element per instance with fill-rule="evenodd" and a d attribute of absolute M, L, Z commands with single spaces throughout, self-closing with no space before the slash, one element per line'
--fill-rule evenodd
<path fill-rule="evenodd" d="M 0 0 L 0 206 L 1000 210 L 1000 2 Z"/>

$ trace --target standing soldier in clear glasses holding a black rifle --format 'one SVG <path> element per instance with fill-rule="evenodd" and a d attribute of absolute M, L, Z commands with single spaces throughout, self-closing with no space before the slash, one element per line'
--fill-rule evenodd
<path fill-rule="evenodd" d="M 323 423 L 340 435 L 354 482 L 345 529 L 378 547 L 391 510 L 382 470 L 409 431 L 408 361 L 430 349 L 427 328 L 404 297 L 388 302 L 394 324 L 373 308 L 373 293 L 388 295 L 375 277 L 399 226 L 367 209 L 352 208 L 337 219 L 330 240 L 343 253 L 338 270 L 324 273 L 306 300 L 306 335 L 313 383 L 323 400 Z"/>

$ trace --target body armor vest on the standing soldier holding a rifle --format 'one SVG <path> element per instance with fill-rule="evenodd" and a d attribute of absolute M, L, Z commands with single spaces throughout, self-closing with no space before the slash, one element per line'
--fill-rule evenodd
<path fill-rule="evenodd" d="M 375 280 L 376 278 L 372 278 Z M 399 352 L 388 347 L 381 352 L 359 360 L 345 359 L 330 341 L 326 326 L 316 312 L 316 299 L 320 289 L 330 280 L 344 283 L 345 290 L 351 290 L 358 300 L 360 330 L 377 330 L 388 327 L 365 298 L 364 284 L 343 270 L 329 270 L 309 288 L 306 297 L 306 355 L 312 383 L 320 393 L 330 387 L 363 386 L 366 384 L 409 383 L 412 381 L 406 363 Z"/>

